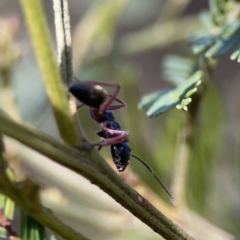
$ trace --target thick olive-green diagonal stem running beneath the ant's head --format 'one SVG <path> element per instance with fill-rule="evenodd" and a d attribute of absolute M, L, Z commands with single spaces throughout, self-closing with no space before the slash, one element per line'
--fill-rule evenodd
<path fill-rule="evenodd" d="M 34 129 L 21 126 L 0 113 L 0 131 L 39 151 L 53 161 L 83 175 L 123 207 L 166 239 L 192 239 L 146 199 L 126 184 L 102 159 L 98 151 L 72 148 Z M 5 193 L 9 196 L 7 193 Z M 15 199 L 13 199 L 15 200 Z M 20 207 L 25 204 L 17 202 Z"/>

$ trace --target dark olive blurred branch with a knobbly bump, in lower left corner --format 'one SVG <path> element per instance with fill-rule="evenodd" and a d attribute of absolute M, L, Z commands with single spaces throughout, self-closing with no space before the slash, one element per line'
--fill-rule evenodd
<path fill-rule="evenodd" d="M 86 237 L 80 233 L 76 233 L 71 228 L 65 226 L 59 219 L 57 219 L 54 214 L 49 210 L 44 209 L 39 201 L 39 187 L 31 182 L 31 180 L 26 180 L 19 188 L 17 188 L 10 180 L 6 174 L 6 160 L 4 158 L 4 144 L 2 138 L 0 138 L 0 192 L 11 198 L 22 210 L 24 210 L 28 215 L 34 217 L 42 225 L 48 227 L 52 231 L 59 234 L 59 236 L 65 239 L 82 239 L 87 240 Z M 8 222 L 5 218 L 1 219 L 5 224 L 9 234 L 11 236 L 16 236 L 15 232 L 12 231 Z"/>

